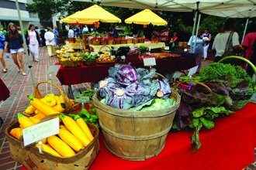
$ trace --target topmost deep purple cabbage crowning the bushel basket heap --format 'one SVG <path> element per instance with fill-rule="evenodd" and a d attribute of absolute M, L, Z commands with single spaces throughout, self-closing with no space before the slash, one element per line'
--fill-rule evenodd
<path fill-rule="evenodd" d="M 109 76 L 125 87 L 137 81 L 137 73 L 130 64 L 116 64 L 116 66 L 109 68 Z"/>

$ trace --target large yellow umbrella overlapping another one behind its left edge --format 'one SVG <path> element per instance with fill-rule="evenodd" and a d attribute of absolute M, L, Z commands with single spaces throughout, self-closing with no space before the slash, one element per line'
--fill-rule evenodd
<path fill-rule="evenodd" d="M 71 20 L 76 19 L 79 23 L 82 22 L 121 22 L 121 19 L 117 18 L 115 15 L 107 12 L 104 8 L 98 5 L 92 5 L 85 10 L 71 15 Z"/>

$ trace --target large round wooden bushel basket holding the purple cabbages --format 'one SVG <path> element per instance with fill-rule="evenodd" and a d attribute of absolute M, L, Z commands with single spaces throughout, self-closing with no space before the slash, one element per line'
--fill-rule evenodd
<path fill-rule="evenodd" d="M 176 103 L 164 109 L 133 111 L 102 104 L 99 91 L 93 101 L 106 148 L 119 158 L 144 161 L 157 156 L 163 149 L 181 97 L 171 90 Z"/>

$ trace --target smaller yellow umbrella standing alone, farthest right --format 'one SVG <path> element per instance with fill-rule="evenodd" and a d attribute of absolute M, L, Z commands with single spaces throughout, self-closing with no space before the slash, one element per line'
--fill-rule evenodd
<path fill-rule="evenodd" d="M 148 25 L 151 23 L 157 26 L 167 25 L 167 22 L 164 19 L 156 15 L 154 12 L 151 12 L 150 9 L 144 9 L 142 12 L 139 12 L 131 16 L 130 18 L 126 19 L 124 22 L 126 22 L 127 24 L 135 23 L 135 24 Z"/>

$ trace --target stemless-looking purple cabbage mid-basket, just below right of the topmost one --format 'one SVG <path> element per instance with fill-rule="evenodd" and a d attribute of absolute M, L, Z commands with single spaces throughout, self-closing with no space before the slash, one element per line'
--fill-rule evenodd
<path fill-rule="evenodd" d="M 126 87 L 126 92 L 133 97 L 134 107 L 149 101 L 150 98 L 150 86 L 146 86 L 142 83 L 132 83 Z"/>

